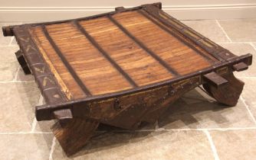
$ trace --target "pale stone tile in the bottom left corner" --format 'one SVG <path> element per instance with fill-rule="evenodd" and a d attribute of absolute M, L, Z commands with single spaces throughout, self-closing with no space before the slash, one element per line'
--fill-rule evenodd
<path fill-rule="evenodd" d="M 48 159 L 52 139 L 52 134 L 0 135 L 0 157 L 6 160 Z"/>

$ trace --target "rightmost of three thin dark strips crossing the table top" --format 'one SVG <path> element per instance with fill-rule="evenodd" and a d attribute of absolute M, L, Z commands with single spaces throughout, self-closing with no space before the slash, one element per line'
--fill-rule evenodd
<path fill-rule="evenodd" d="M 156 55 L 156 53 L 153 53 L 152 50 L 149 50 L 142 42 L 140 42 L 136 37 L 134 37 L 132 34 L 129 33 L 128 30 L 126 30 L 121 24 L 119 24 L 114 18 L 111 16 L 108 16 L 110 18 L 110 21 L 113 22 L 113 24 L 116 24 L 117 27 L 120 28 L 128 37 L 130 37 L 134 42 L 136 42 L 143 50 L 146 50 L 146 53 L 149 53 L 150 56 L 153 56 L 154 59 L 156 59 L 162 66 L 164 66 L 166 69 L 169 70 L 173 75 L 179 75 L 178 72 L 176 72 L 175 69 L 172 69 L 165 61 L 163 61 L 159 56 Z"/>

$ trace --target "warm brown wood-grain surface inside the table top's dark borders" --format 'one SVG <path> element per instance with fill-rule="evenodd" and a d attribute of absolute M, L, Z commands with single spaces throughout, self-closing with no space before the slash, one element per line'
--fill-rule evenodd
<path fill-rule="evenodd" d="M 67 98 L 79 99 L 166 81 L 214 63 L 159 25 L 127 11 L 38 25 L 30 32 Z"/>

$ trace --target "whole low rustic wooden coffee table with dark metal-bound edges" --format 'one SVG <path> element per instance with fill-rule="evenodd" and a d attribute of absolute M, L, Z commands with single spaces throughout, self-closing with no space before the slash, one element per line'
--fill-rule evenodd
<path fill-rule="evenodd" d="M 57 120 L 52 130 L 67 155 L 81 149 L 99 123 L 129 130 L 154 123 L 199 85 L 235 106 L 244 83 L 233 72 L 248 69 L 252 59 L 172 18 L 161 3 L 3 27 L 3 33 L 15 36 L 18 62 L 44 96 L 37 120 Z"/>

